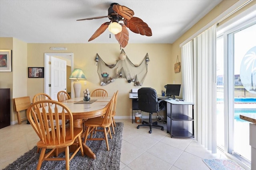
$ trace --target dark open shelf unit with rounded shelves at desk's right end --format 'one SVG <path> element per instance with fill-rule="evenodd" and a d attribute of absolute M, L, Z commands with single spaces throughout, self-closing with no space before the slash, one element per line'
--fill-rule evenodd
<path fill-rule="evenodd" d="M 167 102 L 167 133 L 171 137 L 194 137 L 194 104 Z"/>

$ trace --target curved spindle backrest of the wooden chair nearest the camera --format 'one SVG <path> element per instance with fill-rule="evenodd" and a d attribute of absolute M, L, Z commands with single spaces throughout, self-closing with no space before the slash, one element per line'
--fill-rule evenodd
<path fill-rule="evenodd" d="M 60 102 L 54 100 L 35 102 L 28 108 L 27 117 L 43 143 L 60 145 L 67 140 L 74 139 L 73 115 L 68 107 Z M 62 126 L 65 125 L 66 119 L 70 119 L 70 127 Z M 55 127 L 55 131 L 51 127 Z M 66 133 L 70 134 L 71 139 L 66 139 Z"/>

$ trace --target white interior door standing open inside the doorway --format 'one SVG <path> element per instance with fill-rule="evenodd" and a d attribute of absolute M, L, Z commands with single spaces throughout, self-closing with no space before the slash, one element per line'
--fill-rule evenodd
<path fill-rule="evenodd" d="M 56 57 L 51 57 L 51 97 L 58 100 L 59 91 L 66 91 L 66 66 L 67 62 Z"/>

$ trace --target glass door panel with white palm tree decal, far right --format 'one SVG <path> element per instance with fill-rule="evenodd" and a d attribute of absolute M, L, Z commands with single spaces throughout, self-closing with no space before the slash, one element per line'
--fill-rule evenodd
<path fill-rule="evenodd" d="M 233 154 L 250 161 L 249 122 L 239 116 L 256 114 L 256 24 L 239 29 L 228 37 L 232 37 L 234 47 Z"/>

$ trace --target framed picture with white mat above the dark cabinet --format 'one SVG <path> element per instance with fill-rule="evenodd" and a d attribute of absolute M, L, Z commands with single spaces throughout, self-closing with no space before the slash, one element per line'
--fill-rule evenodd
<path fill-rule="evenodd" d="M 0 72 L 12 71 L 12 51 L 0 50 Z"/>

